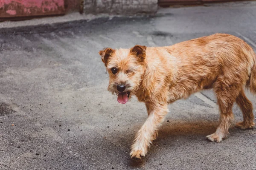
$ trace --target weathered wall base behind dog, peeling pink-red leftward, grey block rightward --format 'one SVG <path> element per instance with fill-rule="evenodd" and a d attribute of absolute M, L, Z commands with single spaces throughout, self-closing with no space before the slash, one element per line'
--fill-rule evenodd
<path fill-rule="evenodd" d="M 0 0 L 0 20 L 67 14 L 154 14 L 157 0 Z"/>

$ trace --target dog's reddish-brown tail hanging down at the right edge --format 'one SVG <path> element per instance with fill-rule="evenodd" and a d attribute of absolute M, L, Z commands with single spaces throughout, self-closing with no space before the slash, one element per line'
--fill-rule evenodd
<path fill-rule="evenodd" d="M 246 88 L 250 89 L 251 93 L 256 95 L 256 54 L 254 52 L 253 56 L 254 64 L 253 67 L 251 68 L 249 80 L 246 82 Z"/>

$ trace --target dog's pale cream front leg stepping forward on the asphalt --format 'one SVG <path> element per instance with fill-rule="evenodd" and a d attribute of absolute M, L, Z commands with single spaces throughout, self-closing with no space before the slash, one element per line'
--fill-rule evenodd
<path fill-rule="evenodd" d="M 148 109 L 147 105 L 147 110 L 151 110 L 148 114 L 148 119 L 137 132 L 134 143 L 131 145 L 131 158 L 141 159 L 141 156 L 145 156 L 154 138 L 154 133 L 161 126 L 164 116 L 168 113 L 167 104 L 157 106 L 150 105 L 149 107 L 151 109 Z"/>

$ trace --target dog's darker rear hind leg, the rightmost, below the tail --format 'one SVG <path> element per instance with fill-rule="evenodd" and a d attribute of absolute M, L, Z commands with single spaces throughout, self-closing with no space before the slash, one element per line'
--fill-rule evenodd
<path fill-rule="evenodd" d="M 240 129 L 253 128 L 253 126 L 255 125 L 255 123 L 253 122 L 253 105 L 250 100 L 247 99 L 247 97 L 245 96 L 243 89 L 236 97 L 236 103 L 237 105 L 239 105 L 244 117 L 244 121 L 237 123 L 236 127 Z"/>

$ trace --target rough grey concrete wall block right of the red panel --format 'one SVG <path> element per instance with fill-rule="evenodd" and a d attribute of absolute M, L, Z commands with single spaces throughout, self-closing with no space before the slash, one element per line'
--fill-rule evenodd
<path fill-rule="evenodd" d="M 157 0 L 84 0 L 84 14 L 154 14 Z"/>

